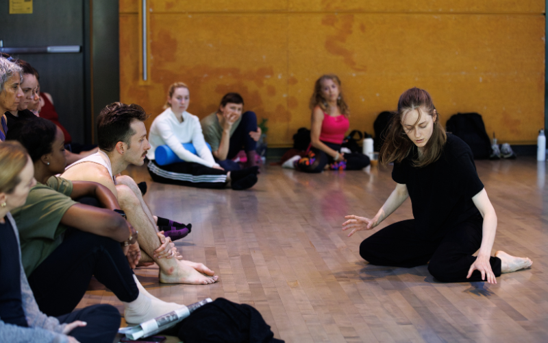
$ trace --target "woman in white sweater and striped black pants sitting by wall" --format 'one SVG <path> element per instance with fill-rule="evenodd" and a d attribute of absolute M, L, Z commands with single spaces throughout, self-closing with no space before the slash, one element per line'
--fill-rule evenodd
<path fill-rule="evenodd" d="M 198 188 L 220 189 L 231 185 L 241 190 L 253 187 L 257 182 L 258 167 L 238 171 L 225 171 L 215 163 L 213 155 L 203 139 L 200 120 L 186 112 L 190 100 L 188 86 L 175 82 L 169 87 L 167 102 L 152 123 L 149 134 L 151 149 L 147 157 L 149 173 L 155 182 Z M 192 143 L 197 154 L 186 150 L 184 143 Z M 158 165 L 155 150 L 167 145 L 184 162 Z"/>

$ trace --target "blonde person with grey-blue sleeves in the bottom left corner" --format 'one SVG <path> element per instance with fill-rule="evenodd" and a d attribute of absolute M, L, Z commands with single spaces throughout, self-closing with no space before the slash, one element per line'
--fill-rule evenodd
<path fill-rule="evenodd" d="M 25 204 L 35 184 L 25 148 L 14 141 L 0 143 L 0 342 L 111 343 L 120 325 L 120 314 L 112 305 L 92 305 L 58 318 L 38 309 L 10 214 Z"/>

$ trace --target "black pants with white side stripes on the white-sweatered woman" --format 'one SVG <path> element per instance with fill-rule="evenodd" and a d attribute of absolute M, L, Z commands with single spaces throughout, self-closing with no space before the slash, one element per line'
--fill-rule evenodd
<path fill-rule="evenodd" d="M 194 162 L 158 165 L 151 160 L 149 174 L 154 182 L 197 188 L 222 189 L 227 185 L 227 171 Z"/>

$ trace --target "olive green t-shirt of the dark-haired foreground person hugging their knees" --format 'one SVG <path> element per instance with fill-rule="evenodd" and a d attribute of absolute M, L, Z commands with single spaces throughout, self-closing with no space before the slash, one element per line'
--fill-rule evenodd
<path fill-rule="evenodd" d="M 27 277 L 63 241 L 68 227 L 61 224 L 61 218 L 77 204 L 69 197 L 72 192 L 73 182 L 51 176 L 46 185 L 38 182 L 32 187 L 27 202 L 11 212 L 19 231 L 21 259 Z"/>

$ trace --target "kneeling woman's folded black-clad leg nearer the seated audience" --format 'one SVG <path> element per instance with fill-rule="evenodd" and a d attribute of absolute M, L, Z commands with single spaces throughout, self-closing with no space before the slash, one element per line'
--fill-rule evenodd
<path fill-rule="evenodd" d="M 374 265 L 412 268 L 425 265 L 437 246 L 417 237 L 414 220 L 403 220 L 364 239 L 360 256 Z"/>

